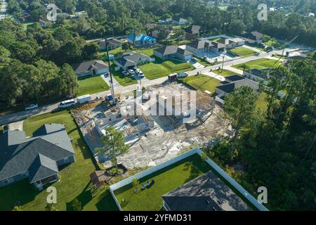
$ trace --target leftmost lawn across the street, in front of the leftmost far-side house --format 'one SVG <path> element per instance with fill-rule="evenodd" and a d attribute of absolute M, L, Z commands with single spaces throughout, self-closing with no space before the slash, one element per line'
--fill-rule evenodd
<path fill-rule="evenodd" d="M 82 77 L 78 80 L 78 83 L 78 96 L 110 90 L 110 86 L 107 85 L 107 83 L 102 79 L 102 77 Z"/>

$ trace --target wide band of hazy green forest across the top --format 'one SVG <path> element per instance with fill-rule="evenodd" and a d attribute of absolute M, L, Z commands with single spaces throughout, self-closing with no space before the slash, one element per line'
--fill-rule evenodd
<path fill-rule="evenodd" d="M 9 12 L 15 15 L 27 10 L 32 15 L 31 19 L 36 21 L 47 13 L 46 0 L 10 1 Z M 232 1 L 226 11 L 201 0 L 55 0 L 49 3 L 57 4 L 60 12 L 86 11 L 89 18 L 76 21 L 70 27 L 88 39 L 123 35 L 132 30 L 144 32 L 148 23 L 183 17 L 201 25 L 206 36 L 259 30 L 279 39 L 290 39 L 298 34 L 298 43 L 316 46 L 315 18 L 306 16 L 306 13 L 315 12 L 312 0 L 237 0 Z M 268 8 L 286 6 L 290 12 L 269 11 L 268 21 L 259 21 L 257 7 L 263 3 Z"/>

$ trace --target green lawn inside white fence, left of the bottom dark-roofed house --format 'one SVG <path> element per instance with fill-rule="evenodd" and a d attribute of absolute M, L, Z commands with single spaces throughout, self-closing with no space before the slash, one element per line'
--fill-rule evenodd
<path fill-rule="evenodd" d="M 123 210 L 159 211 L 162 209 L 162 195 L 208 172 L 210 169 L 211 167 L 207 164 L 202 167 L 201 158 L 195 154 L 140 179 L 140 184 L 146 184 L 146 181 L 154 179 L 154 184 L 144 191 L 135 193 L 135 188 L 132 184 L 129 184 L 119 188 L 114 193 Z M 122 203 L 123 199 L 124 203 Z"/>

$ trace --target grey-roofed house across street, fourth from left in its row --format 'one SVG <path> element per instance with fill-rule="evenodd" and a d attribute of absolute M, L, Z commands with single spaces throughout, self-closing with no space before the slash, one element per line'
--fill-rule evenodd
<path fill-rule="evenodd" d="M 185 46 L 185 49 L 195 54 L 202 53 L 204 51 L 211 51 L 214 53 L 218 53 L 220 51 L 224 51 L 225 45 L 218 43 L 216 41 L 200 40 L 200 41 L 192 41 L 191 43 Z"/>

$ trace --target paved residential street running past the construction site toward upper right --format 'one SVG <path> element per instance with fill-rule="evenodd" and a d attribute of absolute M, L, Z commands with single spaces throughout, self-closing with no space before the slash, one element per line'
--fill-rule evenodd
<path fill-rule="evenodd" d="M 241 63 L 246 63 L 249 62 L 251 60 L 256 60 L 259 58 L 265 58 L 267 56 L 271 56 L 274 53 L 282 53 L 282 51 L 271 51 L 270 53 L 262 53 L 259 56 L 250 56 L 250 57 L 246 57 L 246 58 L 239 58 L 237 60 L 232 60 L 230 62 L 225 62 L 224 63 L 224 67 L 230 67 L 232 65 L 237 65 L 237 64 L 241 64 Z M 187 72 L 189 76 L 192 75 L 196 75 L 197 72 L 199 73 L 203 73 L 203 72 L 209 72 L 210 70 L 216 70 L 218 69 L 218 67 L 221 67 L 221 64 L 218 65 L 212 65 L 206 68 L 199 68 L 196 70 L 192 70 L 190 72 Z M 162 77 L 162 78 L 158 78 L 158 79 L 143 79 L 142 81 L 142 86 L 152 86 L 154 84 L 162 84 L 163 82 L 166 82 L 166 80 L 168 79 L 168 77 Z M 127 92 L 127 91 L 133 91 L 136 90 L 138 84 L 133 84 L 130 86 L 117 86 L 115 85 L 114 87 L 114 91 L 115 91 L 115 95 L 118 95 L 122 92 Z M 96 94 L 91 94 L 91 98 L 94 99 L 96 97 L 104 97 L 106 94 L 110 94 L 110 91 L 103 91 L 103 92 L 99 92 Z M 44 105 L 41 106 L 37 109 L 34 110 L 29 110 L 29 111 L 22 111 L 22 112 L 18 112 L 18 113 L 12 113 L 10 115 L 4 115 L 0 117 L 0 125 L 3 124 L 9 124 L 11 122 L 17 122 L 20 120 L 25 120 L 27 117 L 32 117 L 34 115 L 41 115 L 44 113 L 51 113 L 54 110 L 58 110 L 58 104 L 59 103 L 54 103 L 51 105 Z"/>

